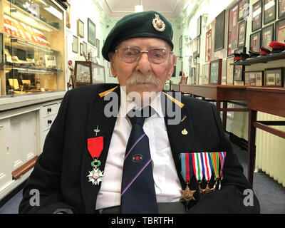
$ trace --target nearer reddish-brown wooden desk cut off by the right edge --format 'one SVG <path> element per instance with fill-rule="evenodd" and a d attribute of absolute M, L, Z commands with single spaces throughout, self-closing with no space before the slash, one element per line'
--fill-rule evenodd
<path fill-rule="evenodd" d="M 249 169 L 248 180 L 252 184 L 254 177 L 254 161 L 255 161 L 255 138 L 256 128 L 265 130 L 268 133 L 285 138 L 285 132 L 269 127 L 269 125 L 285 125 L 285 121 L 258 121 L 257 112 L 269 113 L 285 117 L 285 88 L 262 88 L 248 87 L 248 103 L 249 108 L 249 137 L 248 137 L 248 156 Z"/>

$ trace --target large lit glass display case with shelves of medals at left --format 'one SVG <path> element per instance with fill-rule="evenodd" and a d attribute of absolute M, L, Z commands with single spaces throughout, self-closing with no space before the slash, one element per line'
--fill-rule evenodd
<path fill-rule="evenodd" d="M 65 90 L 63 21 L 55 1 L 0 0 L 2 96 Z"/>

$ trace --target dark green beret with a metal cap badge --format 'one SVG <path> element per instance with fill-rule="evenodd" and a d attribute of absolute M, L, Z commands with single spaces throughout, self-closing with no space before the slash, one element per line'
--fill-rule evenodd
<path fill-rule="evenodd" d="M 129 38 L 153 37 L 166 41 L 173 49 L 172 26 L 162 14 L 156 11 L 144 11 L 128 14 L 112 28 L 102 48 L 102 56 L 109 60 L 108 53 L 115 51 L 119 43 Z"/>

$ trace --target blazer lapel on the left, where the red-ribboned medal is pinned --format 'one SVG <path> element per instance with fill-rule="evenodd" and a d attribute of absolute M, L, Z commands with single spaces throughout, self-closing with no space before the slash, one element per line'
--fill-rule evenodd
<path fill-rule="evenodd" d="M 120 87 L 116 88 L 112 95 L 117 96 L 118 100 L 111 100 L 114 102 L 113 113 L 118 114 L 118 110 L 120 107 Z M 117 102 L 118 101 L 118 102 Z M 88 121 L 86 125 L 86 146 L 83 151 L 83 159 L 82 159 L 82 169 L 81 169 L 81 190 L 83 192 L 83 199 L 86 206 L 87 213 L 95 212 L 95 202 L 97 199 L 98 192 L 100 190 L 99 185 L 93 185 L 92 182 L 88 182 L 88 174 L 89 171 L 93 170 L 91 167 L 91 162 L 93 161 L 90 156 L 87 148 L 87 140 L 88 138 L 95 138 L 94 129 L 97 128 L 100 132 L 97 133 L 97 137 L 103 136 L 103 151 L 101 152 L 100 160 L 101 165 L 99 169 L 101 171 L 104 170 L 105 161 L 107 159 L 108 150 L 110 146 L 110 140 L 112 138 L 113 130 L 115 127 L 115 121 L 117 119 L 117 115 L 113 115 L 108 117 L 104 113 L 105 105 L 110 105 L 110 100 L 105 100 L 104 97 L 98 95 L 98 97 L 93 99 L 93 102 L 90 105 L 90 111 L 88 115 Z M 108 107 L 109 108 L 109 107 Z M 103 173 L 104 175 L 104 173 Z"/>

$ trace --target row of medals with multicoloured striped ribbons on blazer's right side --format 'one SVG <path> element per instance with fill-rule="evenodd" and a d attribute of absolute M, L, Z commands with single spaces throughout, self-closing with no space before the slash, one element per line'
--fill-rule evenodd
<path fill-rule="evenodd" d="M 196 200 L 194 193 L 196 190 L 190 190 L 189 184 L 192 176 L 195 175 L 199 185 L 199 194 L 201 197 L 207 195 L 216 189 L 219 182 L 219 190 L 221 189 L 221 182 L 223 179 L 223 167 L 226 152 L 193 152 L 193 153 L 180 153 L 181 160 L 181 175 L 186 183 L 185 190 L 180 190 L 182 197 L 188 204 L 190 200 Z M 214 187 L 209 187 L 209 180 L 214 175 Z M 204 189 L 201 188 L 202 180 L 207 182 Z"/>

